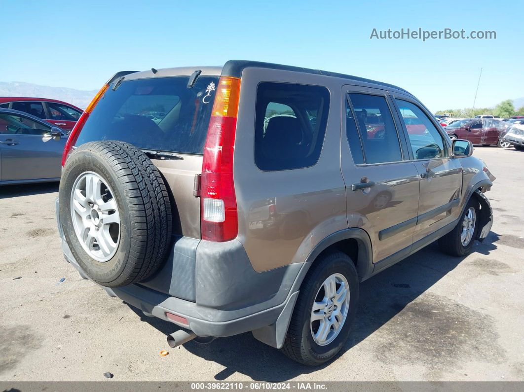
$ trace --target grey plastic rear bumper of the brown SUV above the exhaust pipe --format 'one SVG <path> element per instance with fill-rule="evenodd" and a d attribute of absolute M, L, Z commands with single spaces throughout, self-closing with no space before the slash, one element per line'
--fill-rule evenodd
<path fill-rule="evenodd" d="M 59 222 L 58 198 L 56 204 Z M 85 277 L 58 226 L 65 259 Z M 227 337 L 270 326 L 284 309 L 289 312 L 288 304 L 294 304 L 291 287 L 303 264 L 257 273 L 236 240 L 211 243 L 181 237 L 174 242 L 165 266 L 147 282 L 103 288 L 146 316 L 172 322 L 201 337 Z M 182 316 L 188 324 L 169 319 L 166 312 Z"/>

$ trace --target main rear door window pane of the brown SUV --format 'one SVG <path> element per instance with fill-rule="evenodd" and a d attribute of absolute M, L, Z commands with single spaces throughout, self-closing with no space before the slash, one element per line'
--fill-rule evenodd
<path fill-rule="evenodd" d="M 378 95 L 349 94 L 364 147 L 366 163 L 402 160 L 395 122 L 386 98 Z M 353 151 L 353 150 L 352 150 Z"/>

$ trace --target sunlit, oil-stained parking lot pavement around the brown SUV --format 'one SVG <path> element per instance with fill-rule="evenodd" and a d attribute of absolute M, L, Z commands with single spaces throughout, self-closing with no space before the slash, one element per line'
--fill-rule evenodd
<path fill-rule="evenodd" d="M 497 177 L 489 237 L 462 259 L 432 244 L 364 282 L 351 338 L 321 368 L 250 333 L 170 349 L 173 324 L 108 297 L 64 261 L 57 184 L 2 187 L 0 380 L 524 380 L 524 153 L 474 155 Z"/>

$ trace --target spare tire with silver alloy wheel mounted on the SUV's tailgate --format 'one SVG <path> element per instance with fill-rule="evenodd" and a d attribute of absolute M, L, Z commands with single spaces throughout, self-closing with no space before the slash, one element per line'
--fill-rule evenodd
<path fill-rule="evenodd" d="M 88 197 L 88 181 L 96 184 L 89 187 L 90 195 L 105 192 L 103 196 Z M 156 166 L 132 144 L 96 141 L 75 149 L 63 167 L 59 200 L 65 241 L 94 282 L 105 287 L 140 282 L 157 272 L 165 260 L 172 226 L 169 195 Z M 116 205 L 112 212 L 103 211 L 108 201 Z M 106 219 L 116 213 L 117 218 Z M 105 222 L 111 220 L 118 223 Z M 110 247 L 102 245 L 109 242 L 96 234 L 113 241 L 113 253 L 104 253 Z M 102 256 L 107 260 L 97 259 Z"/>

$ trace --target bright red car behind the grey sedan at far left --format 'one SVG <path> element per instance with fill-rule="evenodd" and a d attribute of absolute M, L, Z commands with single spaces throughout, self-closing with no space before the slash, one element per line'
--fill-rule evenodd
<path fill-rule="evenodd" d="M 82 109 L 57 99 L 0 97 L 0 107 L 25 111 L 69 132 L 77 123 Z"/>

